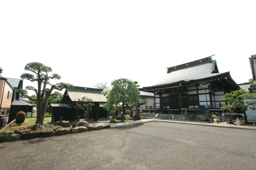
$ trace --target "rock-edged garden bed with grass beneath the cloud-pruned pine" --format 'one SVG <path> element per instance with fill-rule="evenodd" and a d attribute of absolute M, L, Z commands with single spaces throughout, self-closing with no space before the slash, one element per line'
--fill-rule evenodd
<path fill-rule="evenodd" d="M 44 122 L 50 121 L 51 117 L 45 117 Z M 58 121 L 54 124 L 45 124 L 44 126 L 35 125 L 36 118 L 27 118 L 24 123 L 18 125 L 13 122 L 11 126 L 0 134 L 0 143 L 5 141 L 11 142 L 16 140 L 29 140 L 42 137 L 51 137 L 56 135 L 66 135 L 69 133 L 80 133 L 92 130 L 109 129 L 110 125 L 96 125 L 93 126 L 86 121 L 73 122 L 72 125 L 68 121 Z M 69 124 L 69 127 L 61 127 L 56 124 Z"/>

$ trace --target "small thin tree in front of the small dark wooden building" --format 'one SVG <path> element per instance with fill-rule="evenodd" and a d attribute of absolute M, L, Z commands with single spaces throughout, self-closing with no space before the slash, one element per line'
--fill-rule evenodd
<path fill-rule="evenodd" d="M 94 106 L 94 104 L 92 103 L 92 99 L 84 96 L 82 97 L 82 99 L 78 99 L 76 101 L 75 108 L 78 108 L 84 111 L 84 118 L 87 121 L 87 117 L 89 115 L 89 112 L 92 110 L 92 106 Z"/>

